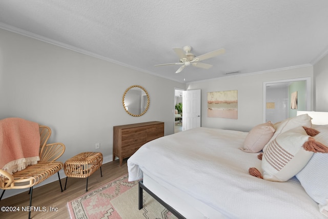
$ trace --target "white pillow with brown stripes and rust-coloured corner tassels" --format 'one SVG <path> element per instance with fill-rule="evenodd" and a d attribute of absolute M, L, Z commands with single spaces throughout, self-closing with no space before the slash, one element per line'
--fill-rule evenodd
<path fill-rule="evenodd" d="M 263 175 L 256 168 L 250 168 L 250 174 L 268 181 L 288 181 L 303 169 L 314 152 L 328 153 L 328 148 L 312 137 L 318 133 L 300 126 L 278 135 L 263 152 Z"/>

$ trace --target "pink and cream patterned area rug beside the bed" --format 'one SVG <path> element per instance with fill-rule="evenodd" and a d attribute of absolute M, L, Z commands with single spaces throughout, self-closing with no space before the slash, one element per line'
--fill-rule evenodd
<path fill-rule="evenodd" d="M 72 219 L 88 218 L 176 218 L 144 191 L 144 208 L 138 209 L 138 181 L 128 182 L 128 174 L 67 203 Z"/>

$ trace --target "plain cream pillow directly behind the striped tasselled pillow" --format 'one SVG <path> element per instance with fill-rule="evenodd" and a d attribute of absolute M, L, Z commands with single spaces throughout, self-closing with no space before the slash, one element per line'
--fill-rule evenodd
<path fill-rule="evenodd" d="M 271 140 L 263 147 L 263 151 L 268 147 L 268 145 L 276 139 L 276 137 L 280 134 L 282 134 L 285 131 L 294 129 L 296 127 L 309 127 L 311 128 L 312 118 L 308 114 L 302 114 L 298 115 L 296 117 L 288 118 L 286 120 L 283 120 L 281 122 L 275 123 L 273 125 L 274 129 L 276 130 L 275 133 L 273 134 Z"/>

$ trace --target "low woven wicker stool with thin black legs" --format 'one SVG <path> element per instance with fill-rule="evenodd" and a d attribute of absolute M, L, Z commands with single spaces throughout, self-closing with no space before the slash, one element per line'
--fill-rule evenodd
<path fill-rule="evenodd" d="M 68 177 L 87 178 L 86 191 L 88 191 L 89 176 L 99 167 L 100 175 L 103 176 L 101 164 L 103 164 L 103 154 L 100 152 L 82 152 L 69 158 L 64 164 L 64 172 L 66 174 L 65 189 Z"/>

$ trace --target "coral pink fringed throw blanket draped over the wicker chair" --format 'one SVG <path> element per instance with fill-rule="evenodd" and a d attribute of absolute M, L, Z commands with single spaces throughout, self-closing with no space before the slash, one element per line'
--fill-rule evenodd
<path fill-rule="evenodd" d="M 39 125 L 23 118 L 0 120 L 0 168 L 12 174 L 39 158 Z"/>

